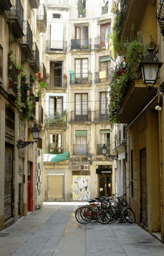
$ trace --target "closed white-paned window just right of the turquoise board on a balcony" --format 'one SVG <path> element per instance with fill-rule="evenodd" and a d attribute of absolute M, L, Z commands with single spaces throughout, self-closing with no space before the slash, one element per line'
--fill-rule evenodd
<path fill-rule="evenodd" d="M 88 77 L 88 59 L 75 60 L 76 78 L 85 79 Z"/>

